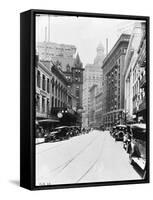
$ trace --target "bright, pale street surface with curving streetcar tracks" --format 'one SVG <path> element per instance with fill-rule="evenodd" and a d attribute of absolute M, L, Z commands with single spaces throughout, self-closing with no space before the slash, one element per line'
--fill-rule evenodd
<path fill-rule="evenodd" d="M 141 179 L 108 131 L 36 145 L 36 185 Z"/>

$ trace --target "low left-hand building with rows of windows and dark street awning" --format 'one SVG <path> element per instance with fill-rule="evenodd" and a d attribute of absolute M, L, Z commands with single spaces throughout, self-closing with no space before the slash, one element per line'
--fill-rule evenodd
<path fill-rule="evenodd" d="M 77 98 L 69 92 L 60 66 L 37 60 L 35 71 L 37 123 L 45 130 L 59 125 L 80 125 L 80 116 L 73 110 Z"/>

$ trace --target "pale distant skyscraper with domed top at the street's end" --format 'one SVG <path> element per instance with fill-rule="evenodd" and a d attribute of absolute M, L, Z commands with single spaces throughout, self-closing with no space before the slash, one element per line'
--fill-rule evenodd
<path fill-rule="evenodd" d="M 104 60 L 104 47 L 100 43 L 97 47 L 97 55 L 94 59 L 93 64 L 87 64 L 83 73 L 83 116 L 82 123 L 83 127 L 89 126 L 89 104 L 90 104 L 90 88 L 96 84 L 98 87 L 102 85 L 102 62 Z"/>

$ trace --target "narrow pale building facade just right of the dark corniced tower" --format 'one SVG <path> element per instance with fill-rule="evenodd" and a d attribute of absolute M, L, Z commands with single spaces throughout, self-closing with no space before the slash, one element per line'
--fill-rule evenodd
<path fill-rule="evenodd" d="M 141 93 L 140 89 L 140 71 L 143 71 L 139 67 L 138 60 L 140 60 L 140 46 L 145 38 L 143 24 L 137 22 L 133 28 L 127 54 L 125 57 L 125 114 L 126 122 L 130 123 L 135 120 L 135 114 L 138 107 L 138 93 Z M 143 45 L 142 45 L 143 46 Z M 144 50 L 145 51 L 145 45 Z M 145 54 L 145 52 L 143 52 Z M 143 72 L 142 72 L 143 74 Z"/>

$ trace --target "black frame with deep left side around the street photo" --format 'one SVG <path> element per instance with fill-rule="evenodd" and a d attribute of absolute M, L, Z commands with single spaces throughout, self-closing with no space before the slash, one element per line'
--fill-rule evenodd
<path fill-rule="evenodd" d="M 96 183 L 35 185 L 35 16 L 52 14 L 95 18 L 133 19 L 146 21 L 146 105 L 147 105 L 147 169 L 143 180 L 110 181 Z M 55 10 L 29 10 L 20 14 L 20 186 L 30 190 L 78 188 L 149 183 L 149 25 L 148 16 L 101 14 Z"/>

